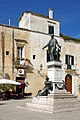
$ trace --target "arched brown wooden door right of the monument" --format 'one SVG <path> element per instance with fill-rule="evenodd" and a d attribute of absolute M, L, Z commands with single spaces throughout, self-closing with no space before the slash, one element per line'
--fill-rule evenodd
<path fill-rule="evenodd" d="M 72 76 L 70 74 L 67 74 L 65 77 L 65 85 L 67 92 L 72 93 Z"/>

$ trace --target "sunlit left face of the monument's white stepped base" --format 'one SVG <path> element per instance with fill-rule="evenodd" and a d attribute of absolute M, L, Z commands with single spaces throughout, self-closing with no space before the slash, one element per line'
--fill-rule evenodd
<path fill-rule="evenodd" d="M 54 99 L 48 96 L 33 97 L 32 103 L 26 103 L 27 108 L 41 112 L 53 112 Z"/>

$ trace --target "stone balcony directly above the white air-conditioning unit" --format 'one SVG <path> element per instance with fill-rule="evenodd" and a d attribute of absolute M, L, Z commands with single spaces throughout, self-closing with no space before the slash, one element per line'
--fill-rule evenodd
<path fill-rule="evenodd" d="M 14 59 L 14 66 L 16 69 L 25 69 L 27 71 L 33 70 L 33 65 L 31 64 L 29 59 L 15 58 Z"/>

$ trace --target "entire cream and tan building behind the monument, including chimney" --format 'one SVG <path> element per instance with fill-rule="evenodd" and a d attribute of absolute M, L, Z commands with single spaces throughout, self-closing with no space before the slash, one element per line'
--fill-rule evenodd
<path fill-rule="evenodd" d="M 16 90 L 22 95 L 29 92 L 36 95 L 44 86 L 47 48 L 42 48 L 51 39 L 51 34 L 61 46 L 62 80 L 66 89 L 74 95 L 79 94 L 80 41 L 60 36 L 60 22 L 54 20 L 53 10 L 49 9 L 49 17 L 24 12 L 19 19 L 19 28 L 0 25 L 0 78 L 21 82 Z"/>

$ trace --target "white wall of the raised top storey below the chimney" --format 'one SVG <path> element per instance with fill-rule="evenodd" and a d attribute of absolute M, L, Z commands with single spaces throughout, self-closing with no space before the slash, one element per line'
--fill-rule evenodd
<path fill-rule="evenodd" d="M 54 35 L 60 35 L 60 22 L 46 17 L 24 13 L 19 27 L 48 34 L 48 26 L 54 26 Z"/>

